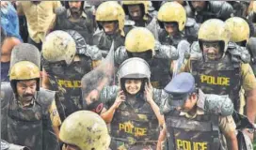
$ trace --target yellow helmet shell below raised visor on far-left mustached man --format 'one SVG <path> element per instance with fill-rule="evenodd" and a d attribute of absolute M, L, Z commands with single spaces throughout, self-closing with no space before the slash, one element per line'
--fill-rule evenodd
<path fill-rule="evenodd" d="M 9 81 L 40 78 L 40 68 L 29 61 L 20 61 L 9 69 Z"/>

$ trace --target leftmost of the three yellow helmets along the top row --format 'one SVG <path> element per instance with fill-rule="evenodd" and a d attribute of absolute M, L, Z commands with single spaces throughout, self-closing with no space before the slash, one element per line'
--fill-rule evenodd
<path fill-rule="evenodd" d="M 118 21 L 121 35 L 124 36 L 125 13 L 121 8 L 120 4 L 116 1 L 107 1 L 102 3 L 96 10 L 96 21 L 97 22 L 109 22 Z M 99 25 L 101 27 L 101 25 Z"/>

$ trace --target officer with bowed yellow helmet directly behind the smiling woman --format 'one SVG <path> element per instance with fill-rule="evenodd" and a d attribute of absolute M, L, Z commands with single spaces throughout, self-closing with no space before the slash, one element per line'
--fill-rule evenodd
<path fill-rule="evenodd" d="M 179 53 L 173 46 L 158 44 L 147 28 L 136 27 L 127 34 L 125 47 L 115 52 L 115 62 L 121 64 L 132 57 L 140 57 L 150 64 L 152 86 L 161 89 L 170 81 L 171 63 L 178 59 Z"/>

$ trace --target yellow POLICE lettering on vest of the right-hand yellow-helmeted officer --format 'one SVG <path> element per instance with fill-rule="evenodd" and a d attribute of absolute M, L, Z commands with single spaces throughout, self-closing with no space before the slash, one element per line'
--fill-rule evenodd
<path fill-rule="evenodd" d="M 207 75 L 200 75 L 200 82 L 206 82 L 208 84 L 214 85 L 230 85 L 230 78 L 226 77 L 214 77 L 214 76 L 207 76 Z"/>

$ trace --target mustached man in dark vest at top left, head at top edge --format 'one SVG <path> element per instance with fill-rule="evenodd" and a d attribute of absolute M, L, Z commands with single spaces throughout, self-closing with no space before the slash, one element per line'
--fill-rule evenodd
<path fill-rule="evenodd" d="M 56 9 L 55 30 L 75 30 L 92 44 L 95 23 L 91 11 L 85 11 L 83 1 L 66 1 L 65 8 Z"/>

